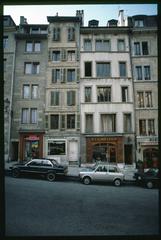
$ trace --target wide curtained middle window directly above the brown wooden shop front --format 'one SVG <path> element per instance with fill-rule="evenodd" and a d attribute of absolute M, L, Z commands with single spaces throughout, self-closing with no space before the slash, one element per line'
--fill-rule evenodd
<path fill-rule="evenodd" d="M 116 132 L 116 114 L 101 114 L 101 132 Z"/>

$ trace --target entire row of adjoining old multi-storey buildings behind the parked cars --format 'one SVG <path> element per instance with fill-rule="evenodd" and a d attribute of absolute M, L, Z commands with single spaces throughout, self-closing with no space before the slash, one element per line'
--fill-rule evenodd
<path fill-rule="evenodd" d="M 83 10 L 47 20 L 16 26 L 4 17 L 5 159 L 155 165 L 156 16 L 120 10 L 104 27 L 84 26 Z"/>

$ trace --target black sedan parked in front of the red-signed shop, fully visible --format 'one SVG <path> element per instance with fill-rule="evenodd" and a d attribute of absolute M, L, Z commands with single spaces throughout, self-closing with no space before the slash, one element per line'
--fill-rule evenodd
<path fill-rule="evenodd" d="M 66 175 L 67 166 L 60 165 L 55 159 L 32 159 L 28 162 L 14 164 L 10 167 L 13 177 L 27 173 L 33 175 L 43 175 L 50 182 L 54 181 L 56 175 Z"/>

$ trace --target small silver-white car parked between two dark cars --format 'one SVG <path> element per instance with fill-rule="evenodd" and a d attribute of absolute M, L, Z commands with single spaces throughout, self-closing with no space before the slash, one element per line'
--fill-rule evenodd
<path fill-rule="evenodd" d="M 124 180 L 124 174 L 117 165 L 107 163 L 96 164 L 92 168 L 82 169 L 79 173 L 80 180 L 84 184 L 91 182 L 112 182 L 115 186 L 120 186 Z"/>

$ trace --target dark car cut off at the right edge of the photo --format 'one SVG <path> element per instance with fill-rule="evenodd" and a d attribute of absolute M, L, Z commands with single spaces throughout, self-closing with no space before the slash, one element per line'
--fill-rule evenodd
<path fill-rule="evenodd" d="M 137 184 L 147 188 L 159 186 L 159 170 L 156 168 L 150 168 L 145 172 L 138 171 L 134 174 L 134 178 Z"/>

